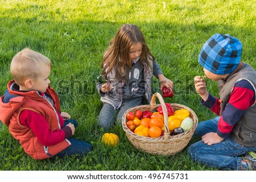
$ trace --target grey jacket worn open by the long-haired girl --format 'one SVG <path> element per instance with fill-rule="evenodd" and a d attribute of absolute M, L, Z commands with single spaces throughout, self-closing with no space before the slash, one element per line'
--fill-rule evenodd
<path fill-rule="evenodd" d="M 153 68 L 153 71 L 145 62 L 142 63 L 144 67 L 143 77 L 142 77 L 144 80 L 144 90 L 145 90 L 144 96 L 147 99 L 148 103 L 150 103 L 151 96 L 152 96 L 151 90 L 152 90 L 153 74 L 155 75 L 155 77 L 158 77 L 159 74 L 163 74 L 159 64 L 157 64 L 155 61 L 152 61 L 152 60 L 149 60 L 149 62 L 151 67 Z M 121 70 L 121 71 L 122 71 L 122 75 L 127 74 L 125 73 L 124 70 Z M 96 88 L 99 94 L 101 95 L 102 103 L 111 104 L 114 107 L 114 109 L 118 109 L 119 107 L 121 107 L 121 104 L 123 101 L 123 97 L 122 97 L 123 81 L 117 81 L 117 79 L 115 79 L 114 70 L 110 71 L 110 74 L 108 75 L 108 81 L 110 81 L 112 85 L 112 89 L 110 92 L 107 92 L 107 93 L 101 92 L 102 84 L 100 82 L 96 84 Z"/>

